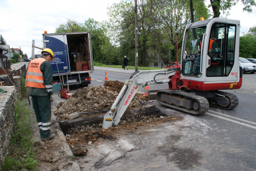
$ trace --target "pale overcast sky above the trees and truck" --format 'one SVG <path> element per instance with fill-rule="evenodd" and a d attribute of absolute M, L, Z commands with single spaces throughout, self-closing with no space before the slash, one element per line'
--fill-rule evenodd
<path fill-rule="evenodd" d="M 209 0 L 208 0 L 209 1 Z M 31 57 L 32 40 L 42 47 L 42 33 L 54 33 L 67 19 L 84 23 L 89 17 L 96 21 L 108 20 L 107 7 L 120 0 L 0 0 L 0 34 L 10 45 Z M 207 2 L 206 2 L 207 3 Z M 241 2 L 230 10 L 228 19 L 240 20 L 240 33 L 247 33 L 256 25 L 256 7 L 252 13 L 242 11 Z M 40 53 L 40 50 L 35 50 Z"/>

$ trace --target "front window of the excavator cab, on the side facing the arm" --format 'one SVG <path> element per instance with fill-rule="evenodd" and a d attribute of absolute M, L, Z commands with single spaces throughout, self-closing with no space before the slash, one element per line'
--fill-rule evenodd
<path fill-rule="evenodd" d="M 185 76 L 200 77 L 201 65 L 201 43 L 200 35 L 206 32 L 206 26 L 190 28 L 186 30 L 186 39 L 184 44 L 184 52 L 182 56 L 182 74 Z M 197 54 L 195 54 L 197 53 Z"/>

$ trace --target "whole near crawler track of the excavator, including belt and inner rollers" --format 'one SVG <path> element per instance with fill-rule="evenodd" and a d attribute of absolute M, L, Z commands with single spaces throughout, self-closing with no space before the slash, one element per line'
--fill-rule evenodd
<path fill-rule="evenodd" d="M 208 112 L 209 109 L 209 102 L 205 97 L 184 91 L 160 90 L 156 94 L 156 100 L 161 105 L 193 115 Z"/>

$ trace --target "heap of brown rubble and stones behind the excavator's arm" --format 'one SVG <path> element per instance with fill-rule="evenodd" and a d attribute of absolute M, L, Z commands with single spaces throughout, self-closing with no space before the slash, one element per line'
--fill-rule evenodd
<path fill-rule="evenodd" d="M 119 81 L 106 81 L 104 86 L 105 87 L 93 86 L 78 89 L 68 100 L 60 102 L 52 112 L 58 115 L 60 120 L 66 120 L 69 114 L 74 112 L 86 113 L 110 109 L 121 88 L 123 88 L 124 83 Z M 147 101 L 147 96 L 136 93 L 127 108 L 140 107 L 144 101 Z M 85 116 L 83 114 L 79 115 L 82 117 Z"/>

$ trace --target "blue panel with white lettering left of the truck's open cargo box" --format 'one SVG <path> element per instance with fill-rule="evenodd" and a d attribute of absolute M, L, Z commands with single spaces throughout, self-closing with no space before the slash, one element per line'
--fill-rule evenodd
<path fill-rule="evenodd" d="M 46 48 L 50 48 L 54 53 L 54 60 L 51 60 L 52 72 L 58 74 L 65 74 L 70 71 L 70 64 L 68 59 L 68 41 L 66 34 L 43 34 L 46 40 Z M 57 66 L 58 65 L 58 69 Z"/>

